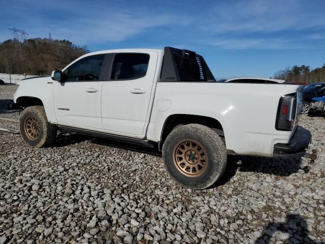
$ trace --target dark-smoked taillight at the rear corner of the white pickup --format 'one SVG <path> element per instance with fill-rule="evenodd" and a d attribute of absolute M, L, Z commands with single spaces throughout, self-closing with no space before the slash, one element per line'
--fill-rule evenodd
<path fill-rule="evenodd" d="M 275 129 L 292 131 L 296 126 L 297 94 L 282 96 L 279 102 Z"/>

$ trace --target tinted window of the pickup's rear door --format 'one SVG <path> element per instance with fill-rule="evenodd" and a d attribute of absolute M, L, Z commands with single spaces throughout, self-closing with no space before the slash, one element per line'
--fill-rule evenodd
<path fill-rule="evenodd" d="M 112 80 L 138 79 L 147 73 L 149 54 L 116 53 L 112 69 Z"/>

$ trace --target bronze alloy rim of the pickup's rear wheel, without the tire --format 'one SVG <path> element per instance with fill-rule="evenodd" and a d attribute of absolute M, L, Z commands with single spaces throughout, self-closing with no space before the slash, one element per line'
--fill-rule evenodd
<path fill-rule="evenodd" d="M 173 161 L 178 171 L 188 177 L 201 175 L 208 164 L 204 147 L 193 140 L 183 140 L 174 147 Z"/>

